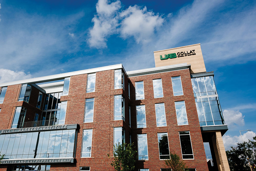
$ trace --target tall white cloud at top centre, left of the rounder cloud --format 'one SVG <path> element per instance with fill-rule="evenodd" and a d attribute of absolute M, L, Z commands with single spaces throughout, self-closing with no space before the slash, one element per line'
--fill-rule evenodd
<path fill-rule="evenodd" d="M 96 4 L 97 15 L 94 15 L 93 27 L 89 30 L 90 47 L 105 48 L 108 36 L 116 31 L 118 18 L 115 16 L 121 8 L 121 2 L 115 1 L 109 4 L 107 0 L 99 0 Z"/>

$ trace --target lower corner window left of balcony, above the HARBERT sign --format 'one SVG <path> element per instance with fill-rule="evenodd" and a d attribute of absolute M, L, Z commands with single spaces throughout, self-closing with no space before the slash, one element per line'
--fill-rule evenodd
<path fill-rule="evenodd" d="M 23 127 L 26 111 L 27 109 L 22 106 L 16 107 L 11 128 Z"/>

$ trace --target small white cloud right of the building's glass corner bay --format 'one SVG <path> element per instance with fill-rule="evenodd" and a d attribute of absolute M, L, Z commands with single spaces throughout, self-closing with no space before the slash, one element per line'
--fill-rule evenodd
<path fill-rule="evenodd" d="M 234 128 L 236 126 L 243 126 L 245 124 L 244 116 L 239 111 L 224 110 L 223 117 L 226 125 L 228 125 L 229 128 Z"/>

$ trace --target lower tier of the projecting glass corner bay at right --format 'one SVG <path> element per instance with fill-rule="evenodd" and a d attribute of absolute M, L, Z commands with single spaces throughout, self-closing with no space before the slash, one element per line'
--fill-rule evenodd
<path fill-rule="evenodd" d="M 195 98 L 200 126 L 224 125 L 218 97 Z"/>

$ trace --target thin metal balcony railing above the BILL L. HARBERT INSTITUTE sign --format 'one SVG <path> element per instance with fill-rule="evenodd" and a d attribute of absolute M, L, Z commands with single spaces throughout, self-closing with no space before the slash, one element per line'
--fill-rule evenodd
<path fill-rule="evenodd" d="M 29 127 L 39 127 L 39 126 L 54 126 L 58 125 L 59 120 L 45 120 L 45 121 L 30 121 L 30 122 L 23 122 L 20 123 L 19 128 L 29 128 Z"/>

